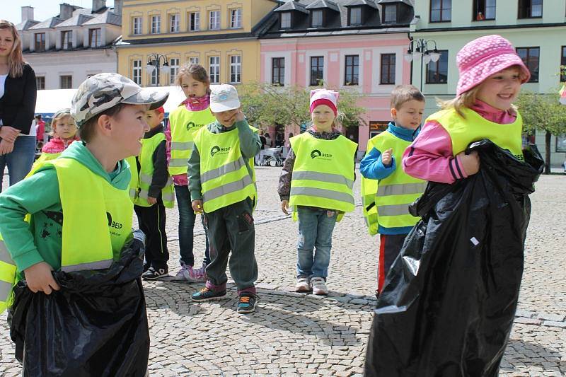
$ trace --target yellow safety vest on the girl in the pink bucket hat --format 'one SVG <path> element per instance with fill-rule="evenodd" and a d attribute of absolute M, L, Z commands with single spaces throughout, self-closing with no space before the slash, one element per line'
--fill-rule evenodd
<path fill-rule="evenodd" d="M 439 122 L 452 141 L 452 153 L 454 156 L 465 151 L 473 141 L 490 139 L 502 149 L 507 149 L 519 160 L 523 160 L 522 138 L 523 118 L 517 113 L 515 122 L 499 124 L 490 122 L 477 112 L 463 108 L 463 119 L 454 108 L 441 110 L 430 115 L 425 122 L 434 120 Z"/>

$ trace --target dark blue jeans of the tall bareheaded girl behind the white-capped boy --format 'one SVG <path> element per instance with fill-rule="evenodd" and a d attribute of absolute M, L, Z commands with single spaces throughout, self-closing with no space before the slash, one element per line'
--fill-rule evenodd
<path fill-rule="evenodd" d="M 195 228 L 195 220 L 197 215 L 192 211 L 190 204 L 190 192 L 188 186 L 175 185 L 175 197 L 177 198 L 177 207 L 179 209 L 179 253 L 181 265 L 194 266 L 195 254 L 192 253 L 193 231 Z M 201 216 L 201 221 L 203 221 Z M 204 221 L 203 221 L 204 225 Z M 210 255 L 208 251 L 208 232 L 204 227 L 204 236 L 206 237 L 204 250 L 204 263 L 210 264 Z"/>

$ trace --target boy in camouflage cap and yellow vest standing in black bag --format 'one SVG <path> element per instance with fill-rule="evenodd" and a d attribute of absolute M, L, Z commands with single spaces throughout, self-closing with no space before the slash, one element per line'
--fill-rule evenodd
<path fill-rule="evenodd" d="M 131 239 L 124 158 L 141 149 L 147 108 L 167 96 L 91 76 L 72 100 L 82 142 L 0 195 L 0 305 L 11 307 L 23 375 L 145 375 L 143 244 Z"/>

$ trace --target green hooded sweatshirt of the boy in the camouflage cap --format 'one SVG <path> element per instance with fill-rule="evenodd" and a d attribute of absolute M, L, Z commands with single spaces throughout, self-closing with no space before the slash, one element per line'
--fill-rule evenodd
<path fill-rule="evenodd" d="M 71 144 L 59 158 L 73 158 L 117 189 L 128 188 L 130 173 L 125 160 L 118 162 L 112 173 L 106 173 L 82 142 Z M 24 221 L 26 214 L 32 214 L 30 224 Z M 18 272 L 43 261 L 55 270 L 61 268 L 63 220 L 53 166 L 41 168 L 0 194 L 0 234 Z"/>

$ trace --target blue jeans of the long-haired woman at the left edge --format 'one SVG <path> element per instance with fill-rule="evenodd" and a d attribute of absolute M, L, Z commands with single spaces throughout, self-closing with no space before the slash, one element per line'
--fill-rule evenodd
<path fill-rule="evenodd" d="M 8 166 L 10 185 L 16 185 L 28 175 L 35 160 L 35 136 L 18 136 L 13 144 L 13 151 L 0 156 L 0 192 L 4 168 Z"/>

